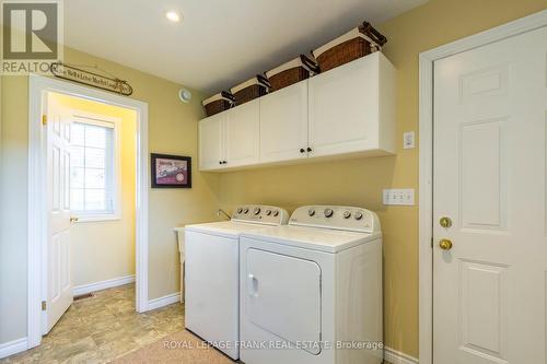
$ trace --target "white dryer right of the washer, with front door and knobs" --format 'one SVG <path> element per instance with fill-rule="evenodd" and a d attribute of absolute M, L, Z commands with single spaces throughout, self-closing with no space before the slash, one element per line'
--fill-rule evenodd
<path fill-rule="evenodd" d="M 241 361 L 380 364 L 382 233 L 372 211 L 311 206 L 240 239 Z"/>

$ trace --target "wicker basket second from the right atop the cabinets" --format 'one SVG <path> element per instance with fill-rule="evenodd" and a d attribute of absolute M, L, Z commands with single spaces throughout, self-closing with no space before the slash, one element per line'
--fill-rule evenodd
<path fill-rule="evenodd" d="M 305 80 L 312 73 L 319 73 L 317 63 L 306 56 L 301 55 L 299 58 L 269 70 L 266 72 L 266 77 L 274 92 Z"/>

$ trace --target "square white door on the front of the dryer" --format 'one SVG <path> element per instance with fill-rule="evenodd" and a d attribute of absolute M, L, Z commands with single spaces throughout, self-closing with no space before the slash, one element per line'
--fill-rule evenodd
<path fill-rule="evenodd" d="M 319 266 L 311 260 L 253 248 L 247 250 L 246 259 L 248 319 L 289 342 L 316 342 L 302 349 L 318 354 Z"/>

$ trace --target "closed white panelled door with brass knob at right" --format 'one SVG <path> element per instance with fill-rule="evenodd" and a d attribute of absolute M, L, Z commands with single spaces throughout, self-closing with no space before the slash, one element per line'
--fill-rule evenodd
<path fill-rule="evenodd" d="M 437 364 L 546 361 L 546 55 L 540 28 L 435 62 Z"/>

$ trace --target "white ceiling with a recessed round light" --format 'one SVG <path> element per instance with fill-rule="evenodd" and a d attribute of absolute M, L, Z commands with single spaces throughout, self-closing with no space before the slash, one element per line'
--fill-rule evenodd
<path fill-rule="evenodd" d="M 65 42 L 213 93 L 427 0 L 68 0 Z M 183 20 L 172 23 L 165 12 Z M 130 81 L 130 80 L 129 80 Z"/>

